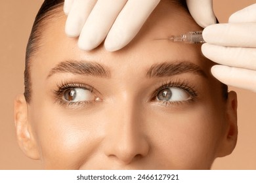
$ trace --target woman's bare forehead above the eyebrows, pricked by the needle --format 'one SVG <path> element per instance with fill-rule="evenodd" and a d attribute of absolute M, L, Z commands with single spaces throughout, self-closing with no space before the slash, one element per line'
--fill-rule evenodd
<path fill-rule="evenodd" d="M 61 13 L 62 12 L 58 12 Z M 146 69 L 154 63 L 166 61 L 190 61 L 209 71 L 210 61 L 200 52 L 200 45 L 156 40 L 170 35 L 202 29 L 180 5 L 161 1 L 135 39 L 122 50 L 107 52 L 100 45 L 86 52 L 77 47 L 77 38 L 68 38 L 64 33 L 66 16 L 58 16 L 47 22 L 41 39 L 41 46 L 33 63 L 43 75 L 66 60 L 94 61 L 112 68 L 116 73 Z M 43 69 L 42 69 L 43 68 Z M 37 73 L 37 72 L 36 72 Z M 209 73 L 209 72 L 208 72 Z M 130 73 L 131 74 L 131 73 Z"/>

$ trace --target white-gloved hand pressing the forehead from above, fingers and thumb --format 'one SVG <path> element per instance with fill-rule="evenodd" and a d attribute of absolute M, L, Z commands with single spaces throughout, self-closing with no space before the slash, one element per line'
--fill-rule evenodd
<path fill-rule="evenodd" d="M 156 8 L 160 0 L 65 0 L 66 34 L 78 37 L 82 50 L 96 48 L 104 39 L 108 51 L 126 46 Z M 187 0 L 199 25 L 215 24 L 212 0 Z"/>

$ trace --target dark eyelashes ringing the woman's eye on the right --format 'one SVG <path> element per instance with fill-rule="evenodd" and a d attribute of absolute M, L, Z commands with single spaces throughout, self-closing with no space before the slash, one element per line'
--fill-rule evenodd
<path fill-rule="evenodd" d="M 191 84 L 189 84 L 188 80 L 177 79 L 169 82 L 163 82 L 160 86 L 158 86 L 158 88 L 156 88 L 155 92 L 152 94 L 153 96 L 152 101 L 153 100 L 156 101 L 156 97 L 161 90 L 165 88 L 171 88 L 171 87 L 185 90 L 191 96 L 191 99 L 188 99 L 186 101 L 157 101 L 160 105 L 167 107 L 169 105 L 180 105 L 184 103 L 191 103 L 196 99 L 196 97 L 198 97 L 198 92 L 196 91 L 195 86 L 192 86 Z"/>

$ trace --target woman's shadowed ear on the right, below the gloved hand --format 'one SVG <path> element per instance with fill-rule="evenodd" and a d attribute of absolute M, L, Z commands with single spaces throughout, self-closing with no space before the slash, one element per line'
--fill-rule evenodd
<path fill-rule="evenodd" d="M 238 139 L 237 107 L 238 100 L 236 92 L 228 92 L 228 99 L 226 101 L 226 124 L 223 125 L 225 131 L 217 157 L 231 154 L 236 147 Z"/>

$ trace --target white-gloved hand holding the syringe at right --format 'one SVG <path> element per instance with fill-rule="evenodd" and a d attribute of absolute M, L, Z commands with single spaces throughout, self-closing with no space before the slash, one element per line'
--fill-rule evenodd
<path fill-rule="evenodd" d="M 203 30 L 205 57 L 221 65 L 211 73 L 230 86 L 256 92 L 256 4 L 240 10 L 228 24 L 215 24 Z"/>

